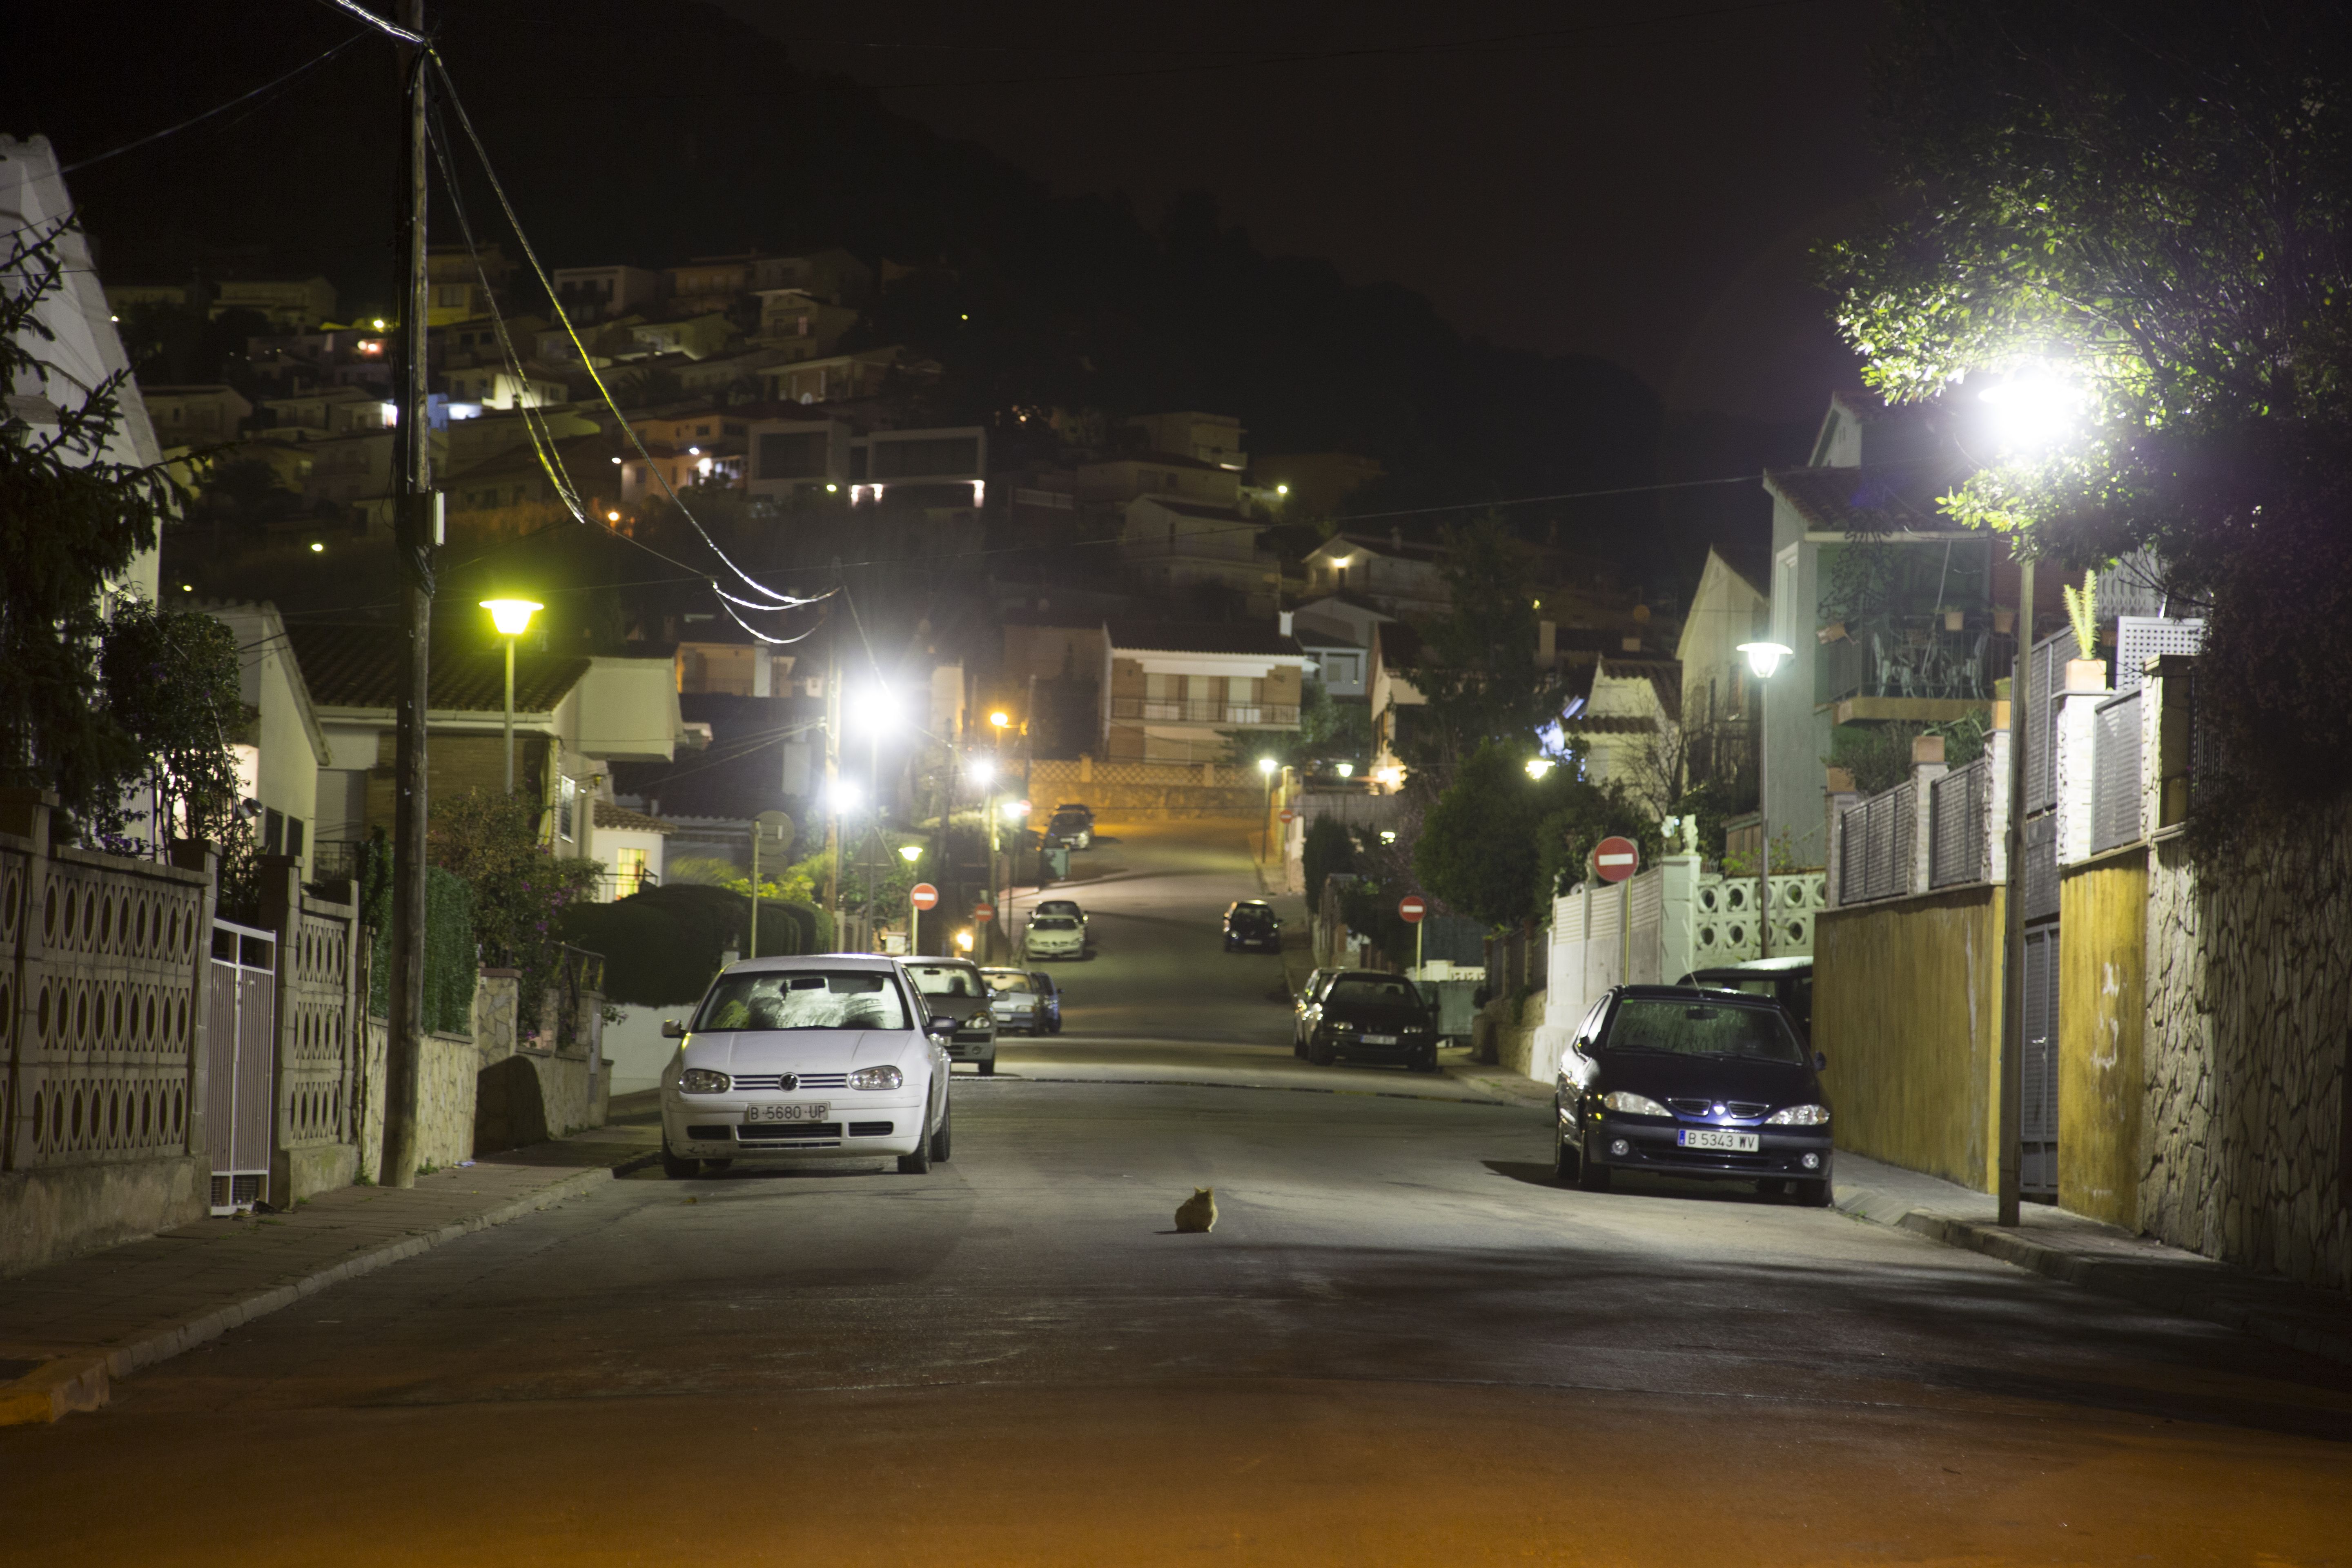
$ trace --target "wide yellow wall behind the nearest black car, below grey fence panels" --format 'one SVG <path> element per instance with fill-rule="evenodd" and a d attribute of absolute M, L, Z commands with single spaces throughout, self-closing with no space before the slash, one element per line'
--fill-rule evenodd
<path fill-rule="evenodd" d="M 1837 1147 L 1994 1187 L 2002 889 L 1828 910 L 1813 922 L 1813 1046 Z"/>

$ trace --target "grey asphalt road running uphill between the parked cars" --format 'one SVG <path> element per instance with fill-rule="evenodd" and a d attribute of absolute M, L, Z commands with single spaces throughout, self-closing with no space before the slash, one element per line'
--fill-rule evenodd
<path fill-rule="evenodd" d="M 1289 1063 L 1192 957 L 1230 853 L 1169 853 L 1070 969 L 1160 1081 L 957 1077 L 927 1178 L 647 1173 L 322 1291 L 0 1429 L 7 1559 L 2352 1561 L 2352 1368 L 1743 1190 L 1557 1190 L 1541 1110 L 1294 1093 L 1374 1074 Z"/>

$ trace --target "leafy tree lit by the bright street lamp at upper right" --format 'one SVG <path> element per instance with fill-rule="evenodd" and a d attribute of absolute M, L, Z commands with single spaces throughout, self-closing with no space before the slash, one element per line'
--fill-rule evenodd
<path fill-rule="evenodd" d="M 2352 26 L 2343 7 L 1905 0 L 1898 207 L 1825 254 L 1896 402 L 1955 386 L 1950 515 L 2209 611 L 2199 703 L 2277 799 L 2352 780 Z M 1994 421 L 1997 423 L 1997 421 Z M 2051 437 L 2060 425 L 2072 433 Z M 2039 428 L 2034 428 L 2039 425 Z"/>

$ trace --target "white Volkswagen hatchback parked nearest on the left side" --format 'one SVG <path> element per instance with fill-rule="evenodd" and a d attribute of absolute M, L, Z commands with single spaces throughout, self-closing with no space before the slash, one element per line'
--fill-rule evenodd
<path fill-rule="evenodd" d="M 661 1168 L 739 1159 L 948 1159 L 953 1018 L 931 1018 L 896 959 L 835 952 L 729 964 L 661 1070 Z"/>

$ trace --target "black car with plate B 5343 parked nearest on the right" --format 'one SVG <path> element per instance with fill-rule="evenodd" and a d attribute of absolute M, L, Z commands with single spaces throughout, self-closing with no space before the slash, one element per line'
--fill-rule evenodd
<path fill-rule="evenodd" d="M 1684 985 L 1611 987 L 1559 1060 L 1552 1166 L 1585 1192 L 1611 1171 L 1717 1175 L 1830 1201 L 1830 1100 L 1778 1001 Z"/>

